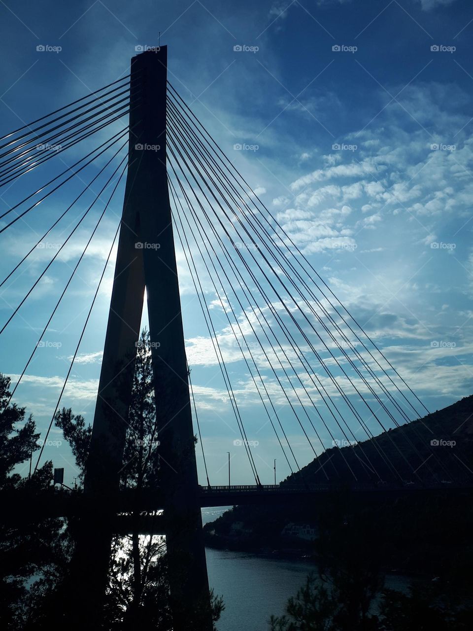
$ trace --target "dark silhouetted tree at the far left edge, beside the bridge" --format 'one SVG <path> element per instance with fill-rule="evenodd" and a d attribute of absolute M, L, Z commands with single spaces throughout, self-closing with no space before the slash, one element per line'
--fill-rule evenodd
<path fill-rule="evenodd" d="M 52 493 L 52 463 L 47 461 L 32 476 L 21 475 L 18 467 L 28 463 L 40 448 L 39 433 L 25 408 L 8 404 L 10 379 L 0 374 L 0 492 L 5 516 L 25 507 L 15 502 L 16 493 Z M 25 468 L 28 464 L 25 465 Z M 5 495 L 7 493 L 7 495 Z M 8 500 L 5 500 L 5 497 Z M 26 628 L 37 616 L 42 594 L 54 586 L 67 560 L 62 519 L 33 521 L 26 514 L 21 522 L 0 523 L 0 627 Z M 38 613 L 39 615 L 39 613 Z"/>

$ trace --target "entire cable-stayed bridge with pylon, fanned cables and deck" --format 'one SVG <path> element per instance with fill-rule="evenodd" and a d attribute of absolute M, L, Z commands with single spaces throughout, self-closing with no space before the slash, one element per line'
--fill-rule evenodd
<path fill-rule="evenodd" d="M 25 182 L 21 196 L 27 193 L 0 215 L 0 235 L 8 230 L 8 237 L 16 222 L 26 221 L 27 215 L 29 220 L 29 213 L 44 219 L 35 243 L 13 262 L 0 288 L 23 272 L 28 257 L 44 247 L 57 225 L 65 223 L 64 233 L 69 232 L 26 295 L 16 306 L 10 305 L 0 335 L 74 233 L 85 227 L 86 217 L 94 218 L 49 317 L 38 315 L 42 332 L 2 413 L 15 402 L 37 348 L 44 345 L 44 336 L 126 177 L 122 215 L 110 236 L 105 265 L 98 270 L 95 294 L 86 305 L 83 328 L 32 470 L 34 479 L 44 462 L 44 445 L 61 411 L 86 327 L 93 326 L 93 307 L 117 244 L 84 488 L 0 494 L 8 507 L 2 518 L 5 523 L 79 517 L 71 562 L 75 586 L 71 599 L 76 599 L 78 613 L 69 622 L 80 628 L 100 619 L 114 533 L 166 535 L 173 628 L 192 628 L 199 611 L 198 628 L 209 631 L 201 507 L 317 502 L 346 490 L 380 498 L 439 489 L 462 492 L 470 484 L 470 478 L 464 480 L 470 469 L 461 458 L 455 456 L 457 462 L 444 457 L 436 445 L 426 444 L 416 420 L 428 413 L 427 408 L 167 81 L 166 66 L 166 47 L 143 52 L 132 59 L 129 75 L 0 139 L 0 187 Z M 118 131 L 107 136 L 117 126 Z M 91 150 L 90 143 L 95 143 Z M 83 157 L 63 168 L 63 154 L 73 147 L 83 151 Z M 37 179 L 38 174 L 45 174 L 45 183 Z M 73 201 L 65 209 L 61 206 L 50 223 L 49 215 L 41 211 L 57 191 Z M 102 211 L 96 211 L 98 201 Z M 85 211 L 72 218 L 71 209 L 78 207 Z M 192 367 L 185 350 L 176 245 L 216 355 L 216 374 L 230 402 L 225 422 L 233 423 L 241 437 L 238 441 L 254 485 L 214 485 L 210 480 L 199 393 L 190 380 Z M 144 413 L 141 426 L 134 424 L 131 413 L 145 290 L 148 369 L 155 401 L 148 433 L 143 429 Z M 208 291 L 216 297 L 214 305 L 209 305 Z M 238 379 L 228 367 L 217 333 L 215 305 L 235 338 L 234 348 L 291 480 L 301 480 L 308 463 L 300 461 L 291 444 L 289 417 L 310 449 L 310 460 L 319 463 L 303 483 L 261 483 L 248 440 L 252 421 L 245 416 Z M 141 361 L 148 358 L 142 355 Z M 396 432 L 404 427 L 408 430 Z M 199 485 L 194 434 L 205 486 Z M 130 463 L 139 463 L 133 474 Z M 144 463 L 153 469 L 151 481 Z"/>

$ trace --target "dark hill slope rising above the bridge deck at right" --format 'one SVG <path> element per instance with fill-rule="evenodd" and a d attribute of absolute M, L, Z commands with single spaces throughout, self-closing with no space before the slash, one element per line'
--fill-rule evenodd
<path fill-rule="evenodd" d="M 350 470 L 351 469 L 351 470 Z M 351 473 L 353 471 L 353 473 Z M 283 484 L 473 478 L 473 395 L 353 446 L 332 447 Z"/>

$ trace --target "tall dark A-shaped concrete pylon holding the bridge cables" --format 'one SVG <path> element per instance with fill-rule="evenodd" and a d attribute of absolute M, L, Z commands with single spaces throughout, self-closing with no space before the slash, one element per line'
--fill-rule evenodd
<path fill-rule="evenodd" d="M 129 165 L 85 493 L 100 499 L 119 490 L 146 288 L 173 630 L 211 631 L 166 176 L 166 66 L 165 46 L 131 60 Z M 92 619 L 100 615 L 107 585 L 111 517 L 85 517 L 80 528 L 79 580 L 85 582 L 85 615 Z"/>

